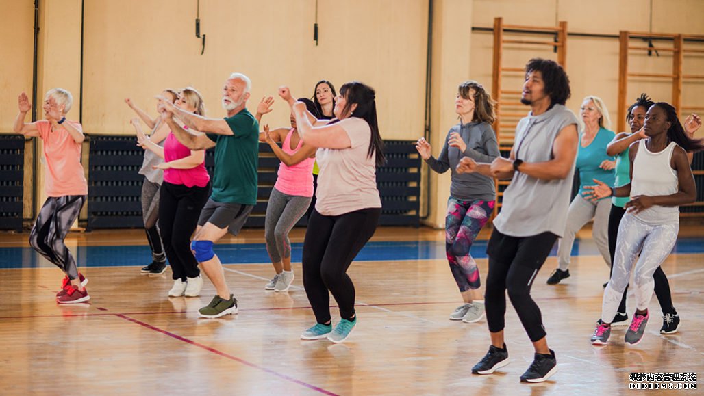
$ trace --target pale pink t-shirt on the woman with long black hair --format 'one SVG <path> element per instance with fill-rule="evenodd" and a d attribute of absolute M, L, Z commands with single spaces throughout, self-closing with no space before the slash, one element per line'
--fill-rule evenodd
<path fill-rule="evenodd" d="M 339 216 L 355 210 L 382 207 L 377 190 L 375 156 L 367 158 L 372 131 L 365 120 L 349 117 L 337 123 L 350 138 L 351 147 L 318 148 L 318 191 L 315 210 Z"/>

